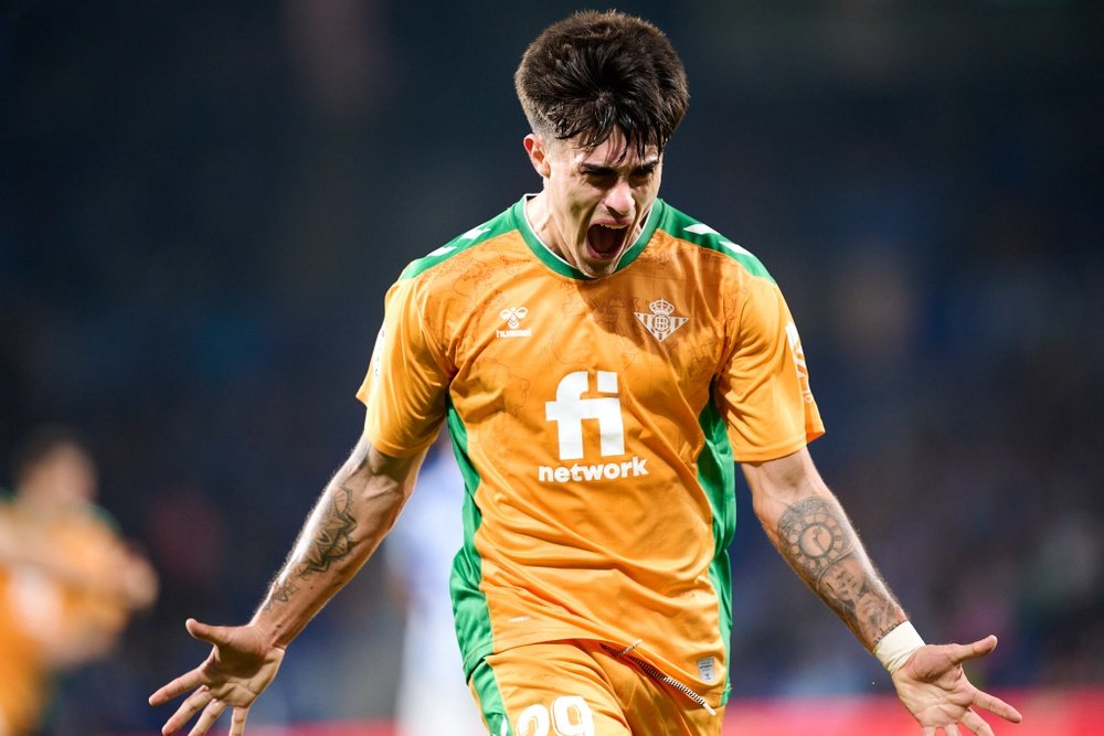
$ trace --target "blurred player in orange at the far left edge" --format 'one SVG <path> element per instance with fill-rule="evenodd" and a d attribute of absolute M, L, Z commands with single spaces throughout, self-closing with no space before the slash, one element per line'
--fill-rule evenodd
<path fill-rule="evenodd" d="M 0 499 L 0 735 L 42 725 L 55 673 L 105 655 L 157 576 L 96 505 L 95 463 L 75 436 L 43 428 Z"/>

